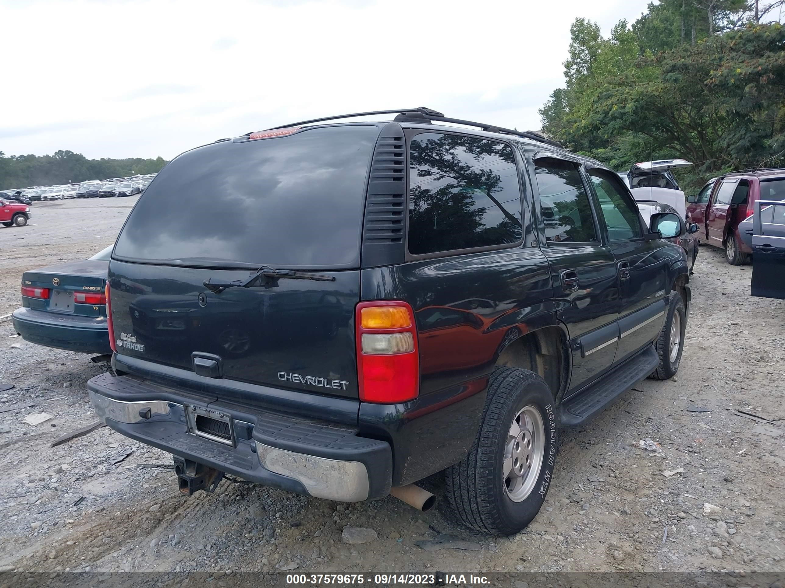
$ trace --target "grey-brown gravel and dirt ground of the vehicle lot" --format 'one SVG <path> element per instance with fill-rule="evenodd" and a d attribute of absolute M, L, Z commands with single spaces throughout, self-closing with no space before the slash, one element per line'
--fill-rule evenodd
<path fill-rule="evenodd" d="M 99 251 L 135 200 L 36 203 L 27 227 L 0 227 L 0 315 L 20 306 L 23 270 Z M 168 454 L 106 427 L 50 448 L 95 421 L 86 381 L 106 365 L 10 338 L 5 318 L 0 382 L 14 387 L 0 392 L 0 570 L 783 570 L 785 305 L 750 298 L 750 272 L 701 249 L 677 377 L 645 380 L 564 432 L 545 506 L 509 539 L 391 497 L 342 504 L 224 481 L 187 498 Z M 53 418 L 23 423 L 33 412 Z M 375 536 L 348 544 L 346 527 Z"/>

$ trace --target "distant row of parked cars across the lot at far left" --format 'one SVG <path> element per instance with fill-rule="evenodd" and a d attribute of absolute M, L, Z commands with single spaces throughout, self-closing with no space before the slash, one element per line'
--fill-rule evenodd
<path fill-rule="evenodd" d="M 155 173 L 111 180 L 88 180 L 64 186 L 30 186 L 0 191 L 0 198 L 31 205 L 34 201 L 66 200 L 68 198 L 111 198 L 141 194 L 155 177 Z"/>

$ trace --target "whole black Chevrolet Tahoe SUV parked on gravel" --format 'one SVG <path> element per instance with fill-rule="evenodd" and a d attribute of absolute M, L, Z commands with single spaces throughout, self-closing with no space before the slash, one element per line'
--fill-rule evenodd
<path fill-rule="evenodd" d="M 511 535 L 560 427 L 676 373 L 683 223 L 644 226 L 619 176 L 539 133 L 362 114 L 166 165 L 111 255 L 90 397 L 186 494 L 232 474 L 425 509 L 414 483 L 444 472 L 460 520 Z"/>

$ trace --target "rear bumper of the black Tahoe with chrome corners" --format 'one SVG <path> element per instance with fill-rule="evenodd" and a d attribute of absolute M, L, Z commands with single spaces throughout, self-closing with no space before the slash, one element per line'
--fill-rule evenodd
<path fill-rule="evenodd" d="M 317 498 L 355 502 L 389 493 L 392 450 L 348 425 L 243 407 L 101 374 L 87 383 L 108 426 L 147 445 L 245 480 Z M 195 416 L 225 419 L 230 441 L 195 429 Z"/>

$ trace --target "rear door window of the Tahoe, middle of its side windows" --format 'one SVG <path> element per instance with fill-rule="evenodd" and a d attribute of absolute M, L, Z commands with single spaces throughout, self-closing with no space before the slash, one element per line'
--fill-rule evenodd
<path fill-rule="evenodd" d="M 578 167 L 559 159 L 542 158 L 535 162 L 535 173 L 546 240 L 597 241 L 589 197 Z"/>

